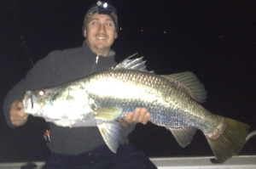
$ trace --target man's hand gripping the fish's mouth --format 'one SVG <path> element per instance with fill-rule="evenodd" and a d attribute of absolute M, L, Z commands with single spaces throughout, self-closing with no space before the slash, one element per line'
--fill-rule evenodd
<path fill-rule="evenodd" d="M 23 111 L 23 104 L 16 100 L 10 105 L 9 118 L 13 125 L 20 127 L 27 121 L 28 114 Z"/>

